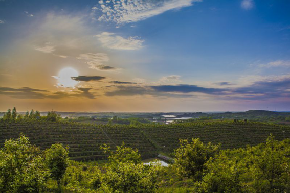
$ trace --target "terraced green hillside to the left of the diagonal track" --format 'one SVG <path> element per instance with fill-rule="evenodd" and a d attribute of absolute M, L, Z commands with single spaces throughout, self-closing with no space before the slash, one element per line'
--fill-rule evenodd
<path fill-rule="evenodd" d="M 99 147 L 106 143 L 114 150 L 124 141 L 127 146 L 137 148 L 143 158 L 154 157 L 155 148 L 138 128 L 123 125 L 91 125 L 63 122 L 21 121 L 9 123 L 0 121 L 0 146 L 5 139 L 17 138 L 23 133 L 41 149 L 54 143 L 70 147 L 74 160 L 101 160 L 105 157 Z"/>

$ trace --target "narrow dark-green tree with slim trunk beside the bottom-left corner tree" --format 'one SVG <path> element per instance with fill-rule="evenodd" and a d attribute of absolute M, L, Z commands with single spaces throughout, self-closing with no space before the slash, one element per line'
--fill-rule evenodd
<path fill-rule="evenodd" d="M 44 153 L 45 161 L 51 170 L 51 177 L 56 180 L 60 189 L 60 182 L 65 174 L 65 170 L 69 165 L 69 150 L 64 148 L 62 144 L 56 143 L 47 149 Z"/>

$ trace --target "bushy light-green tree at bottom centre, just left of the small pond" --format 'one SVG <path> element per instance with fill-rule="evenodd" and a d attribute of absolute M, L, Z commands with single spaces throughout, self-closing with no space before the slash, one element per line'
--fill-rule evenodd
<path fill-rule="evenodd" d="M 138 150 L 117 146 L 111 152 L 108 146 L 101 149 L 109 154 L 109 162 L 105 165 L 105 181 L 113 192 L 155 192 L 159 187 L 157 176 L 160 164 L 144 165 Z"/>

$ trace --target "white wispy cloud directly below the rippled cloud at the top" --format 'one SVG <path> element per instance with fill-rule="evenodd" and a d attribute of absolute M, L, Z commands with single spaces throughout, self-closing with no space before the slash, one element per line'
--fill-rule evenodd
<path fill-rule="evenodd" d="M 123 38 L 114 33 L 103 32 L 95 35 L 104 47 L 116 50 L 139 50 L 142 48 L 144 40 L 137 39 L 136 37 Z"/>

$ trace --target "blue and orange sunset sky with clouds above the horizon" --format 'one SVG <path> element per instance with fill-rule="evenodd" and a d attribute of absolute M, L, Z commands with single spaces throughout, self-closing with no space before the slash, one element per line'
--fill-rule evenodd
<path fill-rule="evenodd" d="M 0 111 L 290 110 L 288 0 L 0 0 Z"/>

